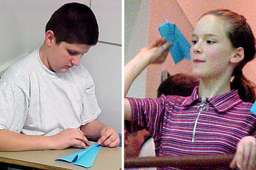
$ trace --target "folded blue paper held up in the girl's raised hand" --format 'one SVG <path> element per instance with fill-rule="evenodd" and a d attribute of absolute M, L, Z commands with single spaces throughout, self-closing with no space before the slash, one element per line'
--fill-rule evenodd
<path fill-rule="evenodd" d="M 164 23 L 158 27 L 158 30 L 162 37 L 166 37 L 166 42 L 172 42 L 169 50 L 175 64 L 184 58 L 190 59 L 191 45 L 174 23 Z"/>

